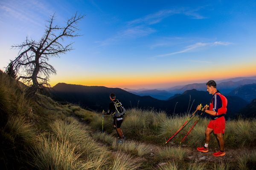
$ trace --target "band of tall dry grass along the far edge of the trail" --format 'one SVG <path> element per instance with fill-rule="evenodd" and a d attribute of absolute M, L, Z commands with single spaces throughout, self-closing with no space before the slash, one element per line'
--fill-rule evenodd
<path fill-rule="evenodd" d="M 142 111 L 140 109 L 128 110 L 122 130 L 129 139 L 141 142 L 151 142 L 160 144 L 166 142 L 188 119 L 186 116 L 167 117 L 165 113 L 155 113 L 154 111 Z M 102 130 L 102 115 L 94 114 L 90 125 L 93 129 Z M 192 127 L 198 116 L 193 117 L 179 134 L 172 139 L 172 142 L 179 144 L 189 129 Z M 224 141 L 226 147 L 245 146 L 245 144 L 253 145 L 256 140 L 256 120 L 230 120 L 226 121 L 226 133 Z M 208 118 L 201 118 L 191 133 L 187 136 L 183 144 L 195 147 L 204 144 L 205 129 L 209 123 Z M 112 121 L 110 116 L 104 117 L 104 131 L 111 133 Z M 215 136 L 211 135 L 211 147 L 218 147 Z"/>

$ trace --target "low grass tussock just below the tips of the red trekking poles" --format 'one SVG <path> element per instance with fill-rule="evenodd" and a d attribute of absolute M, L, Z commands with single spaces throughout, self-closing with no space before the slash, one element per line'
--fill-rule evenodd
<path fill-rule="evenodd" d="M 157 151 L 160 159 L 175 158 L 183 160 L 189 153 L 189 150 L 182 147 L 164 147 Z"/>

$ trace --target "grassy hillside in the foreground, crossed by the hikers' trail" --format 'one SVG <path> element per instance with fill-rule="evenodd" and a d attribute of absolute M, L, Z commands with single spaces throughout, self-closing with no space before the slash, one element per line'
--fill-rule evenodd
<path fill-rule="evenodd" d="M 194 149 L 204 142 L 208 119 L 198 122 L 184 145 L 179 146 L 178 142 L 190 126 L 164 146 L 187 117 L 128 109 L 122 124 L 127 139 L 117 143 L 111 116 L 104 117 L 104 133 L 101 133 L 101 113 L 71 104 L 60 105 L 41 94 L 31 98 L 26 96 L 24 88 L 0 71 L 1 169 L 207 170 L 218 166 L 228 170 L 251 169 L 256 164 L 256 136 L 250 135 L 256 130 L 253 121 L 227 122 L 227 155 L 213 158 L 212 152 L 218 147 L 215 140 L 211 141 L 207 154 Z M 192 122 L 195 119 L 197 116 Z"/>

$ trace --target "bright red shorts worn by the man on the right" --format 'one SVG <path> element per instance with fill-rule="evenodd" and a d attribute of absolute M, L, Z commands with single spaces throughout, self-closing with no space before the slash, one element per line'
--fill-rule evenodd
<path fill-rule="evenodd" d="M 213 133 L 224 133 L 225 132 L 226 120 L 224 116 L 219 117 L 218 119 L 211 120 L 208 124 L 208 128 L 213 129 Z"/>

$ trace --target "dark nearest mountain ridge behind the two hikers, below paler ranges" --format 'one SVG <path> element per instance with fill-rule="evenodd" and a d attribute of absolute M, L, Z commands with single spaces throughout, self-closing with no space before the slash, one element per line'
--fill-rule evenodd
<path fill-rule="evenodd" d="M 58 83 L 53 87 L 52 94 L 56 100 L 67 101 L 78 104 L 83 108 L 94 111 L 108 109 L 110 102 L 109 94 L 115 93 L 116 98 L 122 102 L 126 108 L 154 109 L 156 111 L 166 111 L 168 115 L 174 113 L 186 113 L 195 110 L 196 105 L 208 104 L 212 97 L 206 91 L 195 89 L 185 91 L 183 94 L 176 95 L 169 100 L 154 99 L 151 96 L 138 96 L 122 90 L 120 88 L 106 88 L 103 86 L 83 86 Z M 233 116 L 237 111 L 244 108 L 248 103 L 238 96 L 226 96 L 228 99 L 228 116 Z M 190 102 L 189 102 L 190 99 Z M 194 101 L 194 102 L 193 102 Z M 191 107 L 192 105 L 192 107 Z"/>

